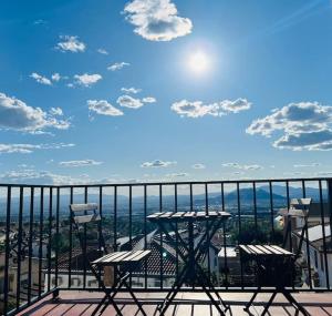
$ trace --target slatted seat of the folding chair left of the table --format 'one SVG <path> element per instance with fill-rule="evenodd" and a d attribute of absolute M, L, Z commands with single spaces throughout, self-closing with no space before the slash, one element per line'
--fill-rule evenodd
<path fill-rule="evenodd" d="M 104 255 L 94 262 L 93 265 L 123 265 L 129 263 L 138 263 L 149 255 L 151 251 L 131 251 L 115 252 Z"/>

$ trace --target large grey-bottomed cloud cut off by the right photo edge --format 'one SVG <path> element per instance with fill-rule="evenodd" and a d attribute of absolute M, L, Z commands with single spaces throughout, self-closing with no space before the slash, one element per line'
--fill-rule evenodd
<path fill-rule="evenodd" d="M 276 131 L 283 132 L 283 135 L 273 142 L 274 147 L 293 151 L 332 150 L 332 106 L 318 102 L 290 103 L 255 120 L 246 130 L 248 134 L 266 137 Z"/>

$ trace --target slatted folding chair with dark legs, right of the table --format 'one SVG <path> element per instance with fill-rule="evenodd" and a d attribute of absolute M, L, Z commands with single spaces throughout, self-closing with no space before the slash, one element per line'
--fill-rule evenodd
<path fill-rule="evenodd" d="M 243 308 L 249 314 L 249 308 L 251 307 L 256 296 L 262 290 L 262 287 L 273 287 L 274 289 L 272 290 L 272 295 L 268 304 L 264 306 L 261 314 L 262 316 L 268 313 L 278 293 L 282 294 L 297 310 L 300 310 L 305 316 L 310 315 L 294 299 L 287 287 L 293 286 L 295 261 L 301 255 L 304 233 L 308 230 L 308 216 L 311 201 L 311 198 L 291 200 L 290 208 L 287 213 L 288 222 L 282 247 L 277 245 L 239 245 L 241 262 L 252 262 L 255 264 L 258 281 L 257 289 Z M 300 243 L 295 254 L 292 252 L 291 243 L 290 249 L 284 249 L 288 237 L 291 234 L 292 217 L 303 220 Z"/>

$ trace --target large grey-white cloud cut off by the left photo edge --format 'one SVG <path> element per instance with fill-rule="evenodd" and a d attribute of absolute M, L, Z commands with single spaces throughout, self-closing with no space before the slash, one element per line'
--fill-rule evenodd
<path fill-rule="evenodd" d="M 41 133 L 49 128 L 66 130 L 69 126 L 69 120 L 58 120 L 52 113 L 0 92 L 0 129 Z"/>

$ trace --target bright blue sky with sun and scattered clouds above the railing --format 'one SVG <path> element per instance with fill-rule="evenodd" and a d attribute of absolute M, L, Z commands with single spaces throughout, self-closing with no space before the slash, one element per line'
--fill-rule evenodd
<path fill-rule="evenodd" d="M 329 175 L 331 31 L 330 1 L 2 1 L 0 181 Z"/>

